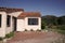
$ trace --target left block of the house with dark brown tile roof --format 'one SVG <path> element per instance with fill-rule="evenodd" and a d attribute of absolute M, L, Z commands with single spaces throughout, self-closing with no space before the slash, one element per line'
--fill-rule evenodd
<path fill-rule="evenodd" d="M 0 37 L 15 30 L 16 17 L 23 13 L 23 9 L 0 8 Z"/>

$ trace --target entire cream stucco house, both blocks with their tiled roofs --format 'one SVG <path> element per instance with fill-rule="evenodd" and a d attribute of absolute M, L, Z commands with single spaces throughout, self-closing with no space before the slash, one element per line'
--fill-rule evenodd
<path fill-rule="evenodd" d="M 0 8 L 0 37 L 12 31 L 41 29 L 41 15 L 38 12 L 24 12 L 23 9 Z"/>

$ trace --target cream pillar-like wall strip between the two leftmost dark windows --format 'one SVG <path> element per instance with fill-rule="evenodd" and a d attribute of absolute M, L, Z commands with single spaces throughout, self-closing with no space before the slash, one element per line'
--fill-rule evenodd
<path fill-rule="evenodd" d="M 2 37 L 5 37 L 5 29 L 6 29 L 6 14 L 2 14 L 2 19 L 1 19 L 1 31 L 2 31 Z"/>

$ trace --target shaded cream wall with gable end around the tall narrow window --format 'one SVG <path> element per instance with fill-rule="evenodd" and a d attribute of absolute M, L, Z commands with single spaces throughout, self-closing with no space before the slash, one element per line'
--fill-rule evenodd
<path fill-rule="evenodd" d="M 13 16 L 17 17 L 22 12 L 13 12 L 13 13 L 10 13 L 8 15 L 11 16 L 11 24 L 10 24 L 10 27 L 6 27 L 5 29 L 5 33 L 10 33 L 11 31 L 14 30 L 14 19 L 12 18 Z"/>

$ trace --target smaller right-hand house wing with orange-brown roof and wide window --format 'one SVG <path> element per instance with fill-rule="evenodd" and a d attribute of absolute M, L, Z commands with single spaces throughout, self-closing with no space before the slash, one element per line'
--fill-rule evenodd
<path fill-rule="evenodd" d="M 24 12 L 17 16 L 16 31 L 41 30 L 41 15 L 39 12 Z"/>

